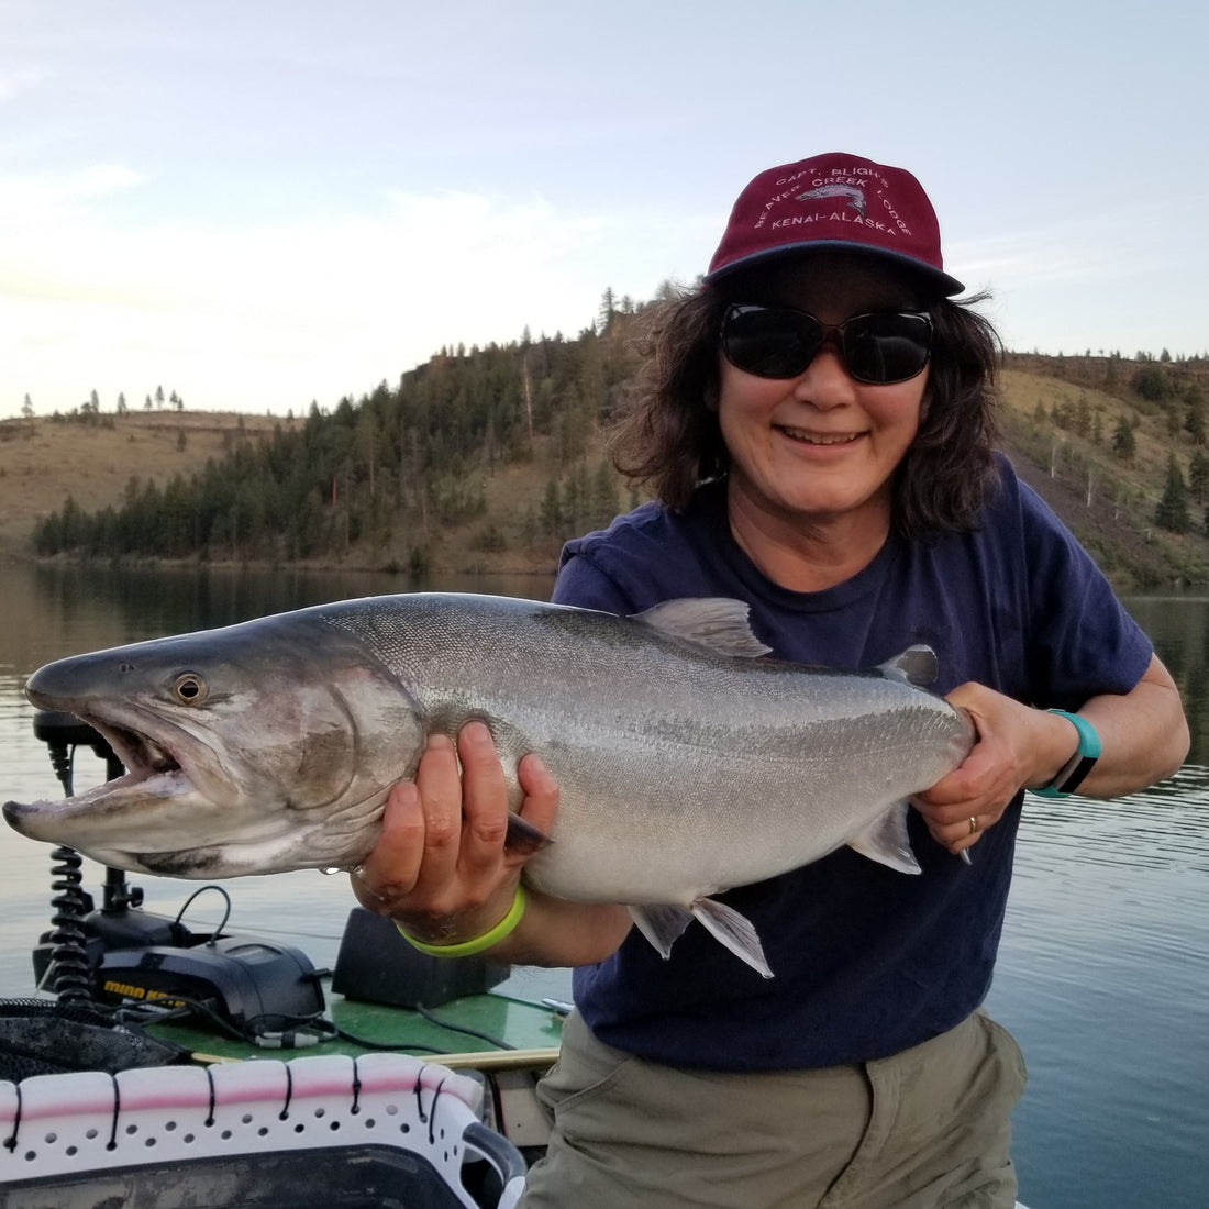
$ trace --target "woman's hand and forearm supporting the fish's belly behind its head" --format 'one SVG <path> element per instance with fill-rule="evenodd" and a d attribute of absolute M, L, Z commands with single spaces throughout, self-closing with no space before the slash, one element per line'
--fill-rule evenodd
<path fill-rule="evenodd" d="M 549 833 L 559 786 L 537 756 L 519 768 L 521 817 Z M 428 741 L 415 782 L 394 787 L 382 835 L 354 873 L 361 906 L 426 944 L 457 944 L 490 932 L 508 914 L 530 852 L 505 848 L 508 789 L 486 725 L 462 728 L 457 747 Z M 607 958 L 625 939 L 624 907 L 572 903 L 532 890 L 516 929 L 488 951 L 499 961 L 575 966 Z"/>

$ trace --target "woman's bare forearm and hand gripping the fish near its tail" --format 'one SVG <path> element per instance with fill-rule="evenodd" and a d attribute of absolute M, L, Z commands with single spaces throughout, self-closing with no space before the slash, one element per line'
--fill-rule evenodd
<path fill-rule="evenodd" d="M 1075 754 L 1078 733 L 1062 715 L 1034 710 L 983 684 L 961 684 L 948 700 L 970 713 L 978 740 L 959 769 L 914 802 L 935 839 L 960 852 L 999 822 L 1022 786 L 1040 788 L 1057 776 Z M 1157 656 L 1128 693 L 1093 696 L 1077 712 L 1101 742 L 1100 758 L 1078 787 L 1087 797 L 1145 788 L 1170 776 L 1188 753 L 1180 693 Z"/>

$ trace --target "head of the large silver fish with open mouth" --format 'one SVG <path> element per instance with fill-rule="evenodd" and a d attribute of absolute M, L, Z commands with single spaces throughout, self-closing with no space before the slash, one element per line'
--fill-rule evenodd
<path fill-rule="evenodd" d="M 423 739 L 389 671 L 299 614 L 62 659 L 25 693 L 96 728 L 128 773 L 8 803 L 10 825 L 168 877 L 355 864 Z"/>

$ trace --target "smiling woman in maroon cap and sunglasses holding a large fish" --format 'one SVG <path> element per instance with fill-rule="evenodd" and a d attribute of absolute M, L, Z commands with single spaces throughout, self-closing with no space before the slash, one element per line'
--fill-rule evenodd
<path fill-rule="evenodd" d="M 914 803 L 921 877 L 843 849 L 725 896 L 769 980 L 700 929 L 664 961 L 623 907 L 519 896 L 480 724 L 392 794 L 363 902 L 429 951 L 578 967 L 528 1205 L 1014 1202 L 1023 1062 L 979 1005 L 1023 791 L 1128 793 L 1188 737 L 1145 636 L 993 453 L 999 347 L 961 289 L 909 173 L 762 173 L 623 421 L 619 467 L 656 502 L 569 543 L 554 592 L 618 613 L 739 597 L 777 656 L 845 669 L 931 646 L 977 741 Z M 536 756 L 520 771 L 545 829 L 557 786 Z"/>

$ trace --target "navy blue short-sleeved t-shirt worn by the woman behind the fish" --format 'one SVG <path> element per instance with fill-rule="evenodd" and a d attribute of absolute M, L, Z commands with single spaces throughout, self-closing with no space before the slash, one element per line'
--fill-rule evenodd
<path fill-rule="evenodd" d="M 857 575 L 817 592 L 770 583 L 731 537 L 724 485 L 708 485 L 686 513 L 646 504 L 568 543 L 554 600 L 629 614 L 730 596 L 751 604 L 752 629 L 781 659 L 868 669 L 922 642 L 939 658 L 939 693 L 977 681 L 1076 710 L 1129 692 L 1150 663 L 1149 640 L 1006 459 L 1000 474 L 976 532 L 891 537 Z M 920 877 L 844 848 L 722 895 L 756 925 L 775 978 L 694 921 L 666 961 L 632 930 L 612 958 L 575 971 L 575 1003 L 607 1045 L 672 1065 L 829 1066 L 937 1036 L 990 987 L 1022 797 L 970 866 L 910 811 Z"/>

